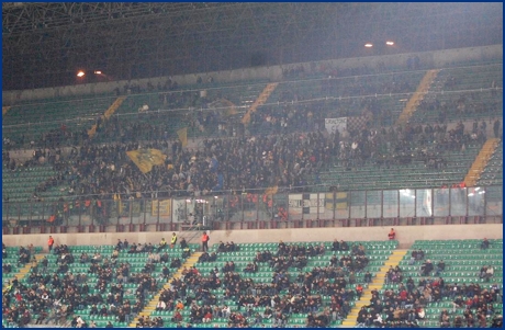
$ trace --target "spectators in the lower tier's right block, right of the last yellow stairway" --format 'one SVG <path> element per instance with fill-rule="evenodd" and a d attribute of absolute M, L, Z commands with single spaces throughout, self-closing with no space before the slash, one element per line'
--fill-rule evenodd
<path fill-rule="evenodd" d="M 426 308 L 430 303 L 452 301 L 452 310 L 442 309 L 436 327 L 440 328 L 486 328 L 487 320 L 494 317 L 493 303 L 502 301 L 500 286 L 494 283 L 489 288 L 479 283 L 457 283 L 444 280 L 446 263 L 440 260 L 437 265 L 425 260 L 425 252 L 413 250 L 411 265 L 419 266 L 417 283 L 408 276 L 403 276 L 401 266 L 390 268 L 385 284 L 395 284 L 396 288 L 386 288 L 382 294 L 377 289 L 371 292 L 370 304 L 362 307 L 358 314 L 359 327 L 378 328 L 418 328 L 426 321 Z M 492 277 L 482 266 L 478 276 Z M 463 314 L 456 314 L 457 309 L 464 309 Z M 498 319 L 493 321 L 498 322 Z M 428 321 L 429 322 L 429 321 Z M 434 325 L 431 325 L 434 326 Z"/>

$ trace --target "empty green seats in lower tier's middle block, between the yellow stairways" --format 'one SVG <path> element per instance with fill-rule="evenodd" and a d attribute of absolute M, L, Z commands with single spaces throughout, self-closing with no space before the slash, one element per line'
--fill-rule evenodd
<path fill-rule="evenodd" d="M 380 270 L 380 268 L 384 264 L 385 260 L 389 258 L 391 254 L 391 251 L 396 248 L 397 242 L 396 241 L 349 241 L 347 242 L 349 246 L 349 250 L 351 249 L 352 246 L 358 247 L 359 244 L 362 244 L 366 250 L 366 257 L 369 259 L 369 263 L 364 269 L 362 269 L 360 272 L 356 272 L 356 283 L 355 284 L 349 284 L 349 273 L 344 272 L 344 280 L 347 282 L 347 285 L 345 287 L 346 291 L 352 291 L 354 293 L 356 292 L 356 286 L 357 284 L 362 284 L 363 287 L 367 287 L 367 283 L 364 282 L 364 274 L 366 272 L 370 272 L 371 276 L 374 276 L 375 273 Z M 232 272 L 235 274 L 235 276 L 238 276 L 239 278 L 245 280 L 247 283 L 250 283 L 248 285 L 249 288 L 247 289 L 242 289 L 240 293 L 233 298 L 232 296 L 227 296 L 227 287 L 226 285 L 221 285 L 218 288 L 209 288 L 209 286 L 205 285 L 205 287 L 210 291 L 210 294 L 215 296 L 216 298 L 216 304 L 214 306 L 211 306 L 212 309 L 215 310 L 221 310 L 223 306 L 228 306 L 231 308 L 232 314 L 242 314 L 243 316 L 246 316 L 248 319 L 248 325 L 249 327 L 276 327 L 278 326 L 278 320 L 276 319 L 276 316 L 272 316 L 271 318 L 262 318 L 261 321 L 256 321 L 256 317 L 258 315 L 263 315 L 263 311 L 266 310 L 266 307 L 262 303 L 256 306 L 251 306 L 250 308 L 239 306 L 242 299 L 239 299 L 239 296 L 254 296 L 254 297 L 260 297 L 260 300 L 262 297 L 267 296 L 268 297 L 268 303 L 266 305 L 270 306 L 270 297 L 274 296 L 276 294 L 279 295 L 280 299 L 288 299 L 288 295 L 293 292 L 296 292 L 296 289 L 289 289 L 289 288 L 282 288 L 281 291 L 270 291 L 270 286 L 274 282 L 273 278 L 276 277 L 276 273 L 284 273 L 284 275 L 288 275 L 290 286 L 294 287 L 296 285 L 302 286 L 302 282 L 299 280 L 299 275 L 302 274 L 302 276 L 305 276 L 308 273 L 316 274 L 315 271 L 322 271 L 326 268 L 329 268 L 330 265 L 330 259 L 333 255 L 336 255 L 337 259 L 340 259 L 344 255 L 350 255 L 350 251 L 337 251 L 333 252 L 332 251 L 332 242 L 290 242 L 285 243 L 285 246 L 289 247 L 301 247 L 303 250 L 308 249 L 308 247 L 321 247 L 324 246 L 325 252 L 323 254 L 316 254 L 316 255 L 308 255 L 307 257 L 307 262 L 306 265 L 298 268 L 298 266 L 290 266 L 285 272 L 280 271 L 280 272 L 274 272 L 274 269 L 268 263 L 268 262 L 256 262 L 258 265 L 258 271 L 257 272 L 245 272 L 244 270 L 254 263 L 255 258 L 258 252 L 262 253 L 265 251 L 270 251 L 272 255 L 276 255 L 278 252 L 279 243 L 239 243 L 235 244 L 235 251 L 222 251 L 220 250 L 220 243 L 213 244 L 211 249 L 209 250 L 209 253 L 212 255 L 213 253 L 216 253 L 216 261 L 199 261 L 195 264 L 197 270 L 199 273 L 202 275 L 204 278 L 211 278 L 211 273 L 213 272 L 214 269 L 217 269 L 220 275 L 220 280 L 222 283 L 224 283 L 226 280 L 226 274 L 223 271 L 224 266 L 228 262 L 234 262 L 235 264 L 235 270 Z M 289 255 L 284 254 L 284 258 L 288 258 Z M 317 276 L 317 275 L 315 275 Z M 250 282 L 249 282 L 250 281 Z M 313 282 L 317 282 L 316 280 L 313 280 Z M 337 280 L 329 280 L 330 283 L 337 283 Z M 195 292 L 188 291 L 189 296 L 197 295 Z M 312 314 L 314 316 L 316 315 L 322 315 L 324 310 L 329 309 L 332 306 L 332 299 L 335 295 L 329 294 L 328 292 L 325 291 L 319 291 L 319 289 L 311 289 L 308 294 L 303 294 L 303 296 L 312 296 L 312 297 L 321 297 L 321 304 L 318 304 L 318 307 L 314 310 L 312 310 Z M 352 298 L 348 301 L 349 307 L 351 308 L 355 304 L 355 300 L 357 297 L 352 295 Z M 344 299 L 345 300 L 345 299 Z M 201 300 L 195 301 L 199 306 L 203 306 L 203 303 Z M 217 309 L 215 309 L 217 307 Z M 349 310 L 350 310 L 349 308 Z M 272 308 L 273 314 L 276 314 L 276 308 Z M 190 323 L 191 321 L 191 310 L 187 306 L 184 307 L 181 311 L 182 316 L 182 321 L 181 325 L 186 326 L 187 323 Z M 292 311 L 289 312 L 287 310 L 283 311 L 285 315 L 285 323 L 283 326 L 285 327 L 305 327 L 307 323 L 307 312 L 303 310 L 298 310 L 298 311 Z M 177 327 L 178 322 L 172 321 L 172 317 L 175 315 L 173 310 L 160 310 L 160 311 L 153 311 L 150 315 L 152 318 L 160 317 L 164 320 L 164 327 L 166 328 L 175 328 Z M 335 327 L 338 325 L 341 325 L 341 319 L 345 318 L 345 315 L 341 315 L 340 317 L 337 317 L 336 315 L 329 315 L 330 323 L 328 325 L 329 327 Z M 191 322 L 193 328 L 211 328 L 211 327 L 218 327 L 218 328 L 224 328 L 228 327 L 231 320 L 228 317 L 220 315 L 217 312 L 213 314 L 212 320 L 209 323 L 205 322 Z"/>

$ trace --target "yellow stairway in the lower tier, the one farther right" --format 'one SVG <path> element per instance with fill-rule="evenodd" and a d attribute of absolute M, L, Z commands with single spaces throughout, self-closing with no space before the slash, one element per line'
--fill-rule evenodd
<path fill-rule="evenodd" d="M 397 249 L 391 253 L 390 258 L 385 261 L 380 272 L 375 274 L 375 276 L 372 278 L 372 282 L 368 285 L 366 289 L 363 289 L 361 298 L 358 301 L 356 301 L 356 305 L 350 310 L 349 315 L 347 316 L 347 319 L 343 321 L 341 328 L 351 328 L 356 326 L 358 312 L 361 309 L 361 307 L 370 305 L 370 299 L 372 298 L 372 289 L 379 291 L 382 288 L 385 282 L 385 274 L 388 273 L 390 266 L 394 268 L 397 264 L 400 264 L 400 261 L 403 259 L 403 257 L 405 257 L 407 251 L 407 249 Z"/>

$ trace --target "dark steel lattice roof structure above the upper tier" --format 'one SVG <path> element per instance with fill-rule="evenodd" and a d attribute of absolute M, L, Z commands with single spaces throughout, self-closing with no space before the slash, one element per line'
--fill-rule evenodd
<path fill-rule="evenodd" d="M 366 41 L 390 37 L 402 53 L 480 46 L 502 27 L 502 3 L 7 2 L 2 78 L 27 89 L 72 84 L 79 68 L 135 79 L 290 64 L 371 55 Z"/>

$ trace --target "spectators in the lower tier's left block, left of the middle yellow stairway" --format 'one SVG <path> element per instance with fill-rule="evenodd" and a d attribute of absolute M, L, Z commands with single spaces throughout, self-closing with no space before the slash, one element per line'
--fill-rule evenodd
<path fill-rule="evenodd" d="M 21 255 L 26 251 L 23 248 Z M 32 321 L 36 325 L 65 325 L 71 317 L 72 327 L 94 328 L 90 319 L 97 316 L 113 316 L 117 322 L 130 322 L 132 316 L 143 310 L 148 295 L 158 292 L 160 283 L 170 276 L 167 266 L 175 261 L 178 266 L 181 264 L 177 257 L 170 261 L 167 251 L 160 257 L 154 244 L 128 244 L 126 240 L 119 241 L 111 255 L 96 252 L 92 257 L 87 253 L 75 257 L 65 244 L 55 246 L 53 253 L 56 264 L 49 265 L 45 257 L 32 265 L 26 283 L 16 278 L 9 283 L 2 296 L 2 315 L 9 323 L 19 327 Z M 147 253 L 146 265 L 142 272 L 133 272 L 128 262 L 117 261 L 120 253 Z M 159 258 L 153 258 L 155 254 Z M 79 266 L 89 265 L 88 271 L 74 273 L 72 264 L 77 263 Z M 156 269 L 161 265 L 157 277 Z M 90 277 L 97 281 L 90 282 Z M 88 308 L 89 315 L 83 315 L 82 310 Z"/>

